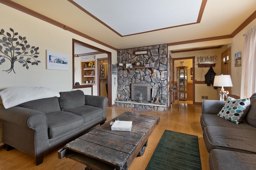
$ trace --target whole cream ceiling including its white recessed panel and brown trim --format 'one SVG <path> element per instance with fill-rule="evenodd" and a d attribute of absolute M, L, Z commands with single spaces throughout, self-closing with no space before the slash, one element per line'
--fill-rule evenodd
<path fill-rule="evenodd" d="M 5 3 L 3 1 L 0 0 Z M 256 0 L 12 2 L 58 21 L 68 31 L 79 31 L 88 39 L 108 45 L 112 49 L 230 37 L 256 9 Z"/>

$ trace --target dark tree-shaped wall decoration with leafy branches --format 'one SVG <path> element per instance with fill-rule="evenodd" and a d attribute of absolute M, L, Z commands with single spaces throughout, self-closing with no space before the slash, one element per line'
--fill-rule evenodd
<path fill-rule="evenodd" d="M 18 33 L 14 32 L 12 28 L 10 28 L 11 33 L 6 32 L 4 34 L 4 29 L 1 29 L 0 35 L 3 35 L 2 39 L 0 39 L 0 65 L 4 63 L 6 60 L 10 61 L 10 68 L 8 70 L 3 70 L 6 72 L 14 71 L 14 63 L 18 62 L 23 64 L 23 67 L 26 66 L 28 69 L 28 64 L 38 65 L 41 63 L 38 58 L 38 47 L 32 46 L 28 44 L 26 37 L 18 36 Z M 18 37 L 18 38 L 17 38 Z"/>

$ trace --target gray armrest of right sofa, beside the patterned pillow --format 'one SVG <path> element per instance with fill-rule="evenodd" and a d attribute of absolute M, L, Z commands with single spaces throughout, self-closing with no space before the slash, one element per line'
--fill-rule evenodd
<path fill-rule="evenodd" d="M 203 100 L 202 101 L 202 114 L 218 114 L 226 101 L 220 100 Z"/>

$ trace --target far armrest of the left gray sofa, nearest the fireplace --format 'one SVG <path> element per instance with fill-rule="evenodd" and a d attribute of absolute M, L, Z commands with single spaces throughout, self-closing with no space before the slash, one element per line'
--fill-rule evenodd
<path fill-rule="evenodd" d="M 103 96 L 91 96 L 91 95 L 84 95 L 85 96 L 85 105 L 100 107 L 103 109 L 103 121 L 106 121 L 106 113 L 107 113 L 107 104 L 108 98 Z"/>

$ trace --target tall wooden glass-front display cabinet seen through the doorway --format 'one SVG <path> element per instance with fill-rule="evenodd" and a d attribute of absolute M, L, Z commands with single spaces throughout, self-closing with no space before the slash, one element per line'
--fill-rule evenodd
<path fill-rule="evenodd" d="M 179 66 L 177 68 L 177 88 L 180 92 L 179 100 L 186 101 L 188 96 L 188 67 Z"/>

